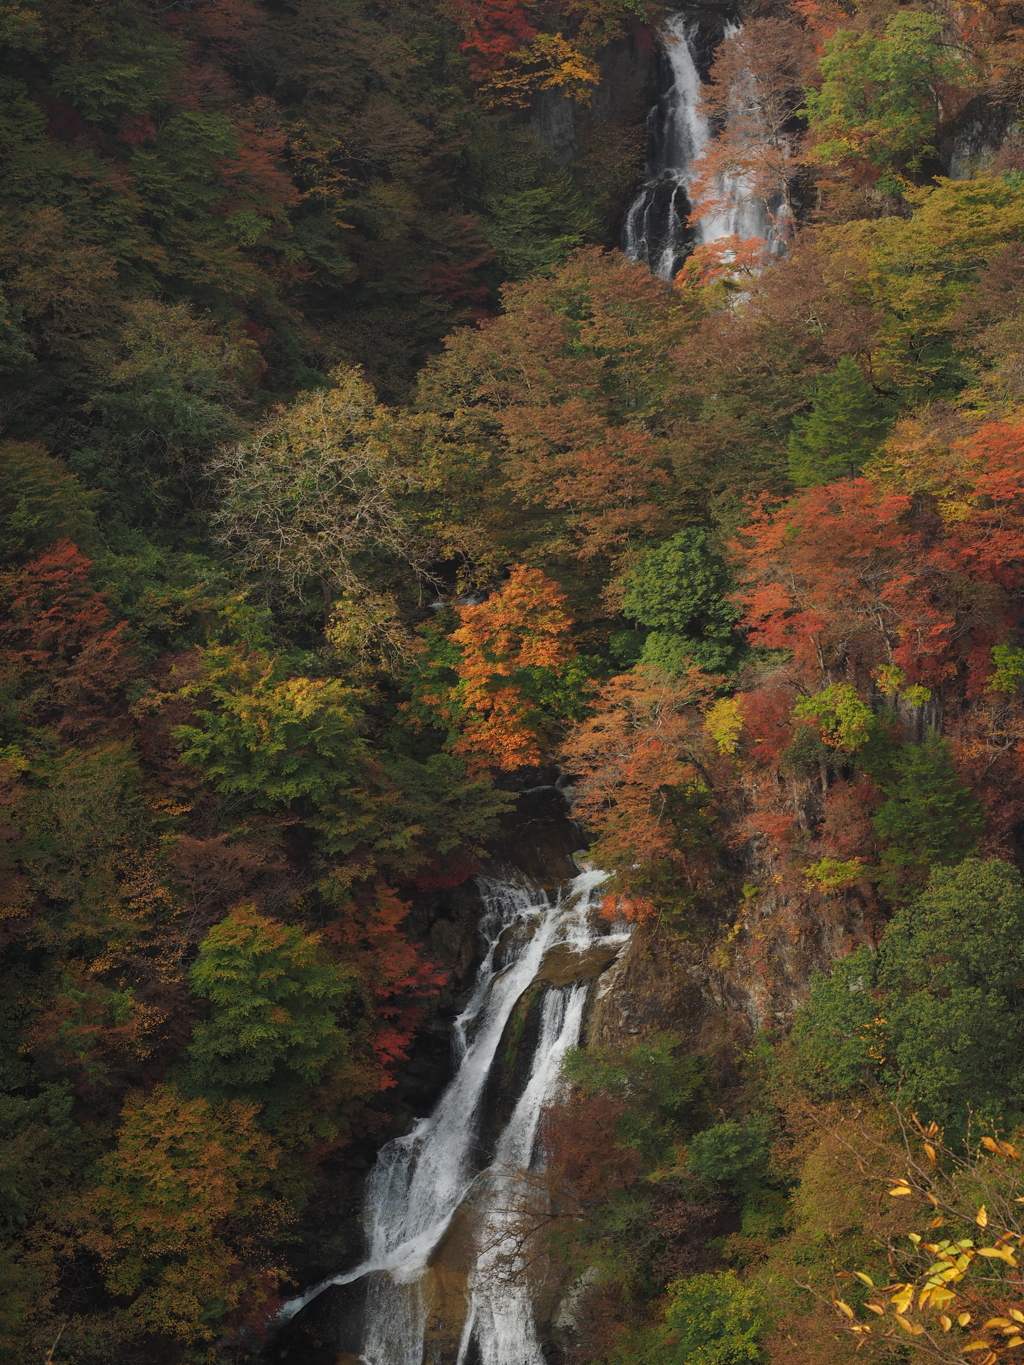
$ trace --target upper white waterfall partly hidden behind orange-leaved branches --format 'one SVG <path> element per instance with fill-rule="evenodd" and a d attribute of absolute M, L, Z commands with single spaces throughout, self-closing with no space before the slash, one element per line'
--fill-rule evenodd
<path fill-rule="evenodd" d="M 762 203 L 747 195 L 739 176 L 724 176 L 722 212 L 688 225 L 689 188 L 696 179 L 694 164 L 713 132 L 699 112 L 700 74 L 694 59 L 694 23 L 685 14 L 672 14 L 661 31 L 668 68 L 665 93 L 647 116 L 646 179 L 623 222 L 623 250 L 643 261 L 662 280 L 670 280 L 692 247 L 736 233 L 739 238 L 773 238 Z M 725 37 L 739 29 L 725 26 Z"/>

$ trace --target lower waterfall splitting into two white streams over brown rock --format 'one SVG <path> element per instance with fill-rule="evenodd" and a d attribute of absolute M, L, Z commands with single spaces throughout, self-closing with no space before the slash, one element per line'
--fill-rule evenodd
<path fill-rule="evenodd" d="M 481 879 L 487 947 L 455 1021 L 455 1074 L 433 1114 L 377 1156 L 366 1185 L 363 1261 L 288 1302 L 281 1319 L 330 1284 L 366 1279 L 356 1357 L 366 1365 L 543 1365 L 513 1224 L 523 1177 L 537 1163 L 542 1110 L 557 1099 L 563 1059 L 580 1037 L 590 981 L 579 977 L 594 975 L 595 958 L 610 962 L 628 939 L 621 925 L 609 931 L 597 915 L 603 880 L 603 872 L 586 871 L 549 894 L 515 878 Z M 545 988 L 528 1078 L 485 1163 L 478 1148 L 498 1046 L 552 957 L 553 975 L 569 984 Z M 461 1316 L 438 1327 L 438 1319 L 452 1316 L 452 1301 L 438 1302 L 430 1272 L 456 1215 L 464 1218 L 470 1248 L 456 1295 Z"/>

